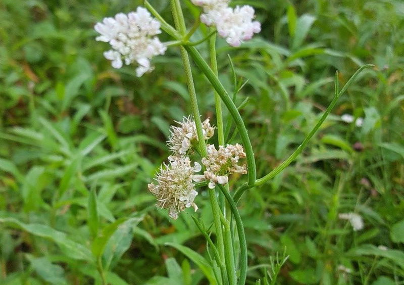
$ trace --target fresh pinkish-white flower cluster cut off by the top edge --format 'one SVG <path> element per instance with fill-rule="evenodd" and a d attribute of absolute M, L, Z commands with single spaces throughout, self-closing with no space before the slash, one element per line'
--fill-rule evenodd
<path fill-rule="evenodd" d="M 261 31 L 261 24 L 252 21 L 255 17 L 254 8 L 248 5 L 228 6 L 229 0 L 191 0 L 196 6 L 204 9 L 200 20 L 208 26 L 216 26 L 221 37 L 226 38 L 228 44 L 240 46 L 243 40 L 249 40 L 254 33 Z"/>

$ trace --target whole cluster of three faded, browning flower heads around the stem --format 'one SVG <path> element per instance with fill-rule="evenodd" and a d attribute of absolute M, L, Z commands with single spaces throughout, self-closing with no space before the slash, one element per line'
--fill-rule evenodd
<path fill-rule="evenodd" d="M 194 199 L 198 193 L 193 182 L 208 180 L 209 187 L 214 188 L 215 183 L 226 184 L 231 173 L 247 173 L 245 165 L 237 165 L 240 159 L 245 158 L 245 153 L 243 147 L 236 144 L 219 146 L 219 150 L 214 145 L 208 145 L 208 157 L 202 159 L 206 171 L 203 175 L 195 174 L 201 170 L 201 166 L 194 162 L 192 167 L 188 157 L 198 139 L 195 122 L 191 117 L 184 117 L 182 122 L 177 123 L 180 126 L 171 126 L 170 139 L 167 141 L 172 151 L 168 158 L 169 163 L 163 163 L 160 167 L 155 178 L 157 184 L 147 185 L 149 191 L 157 197 L 157 206 L 169 209 L 169 216 L 173 219 L 177 219 L 179 212 L 185 208 L 192 206 L 197 210 Z M 202 123 L 202 127 L 206 140 L 214 135 L 215 128 L 211 126 L 209 119 Z"/>

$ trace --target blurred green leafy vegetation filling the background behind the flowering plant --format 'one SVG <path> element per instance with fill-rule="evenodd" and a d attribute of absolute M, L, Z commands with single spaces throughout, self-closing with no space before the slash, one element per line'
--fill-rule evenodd
<path fill-rule="evenodd" d="M 172 22 L 167 0 L 150 2 Z M 190 26 L 198 10 L 183 2 Z M 246 103 L 259 177 L 310 131 L 332 100 L 336 70 L 343 85 L 375 64 L 296 163 L 243 196 L 247 282 L 262 279 L 286 248 L 279 284 L 404 284 L 404 2 L 232 3 L 254 6 L 263 25 L 241 48 L 218 40 L 224 85 L 233 89 L 228 55 L 240 82 L 248 80 L 236 105 Z M 97 261 L 111 284 L 208 283 L 192 255 L 206 255 L 191 219 L 211 223 L 205 189 L 198 212 L 170 221 L 146 187 L 168 155 L 169 125 L 190 113 L 179 50 L 136 78 L 132 66 L 113 69 L 107 44 L 94 39 L 97 21 L 139 5 L 0 2 L 1 284 L 99 283 Z M 207 56 L 205 44 L 198 48 Z M 214 122 L 213 90 L 196 69 L 194 77 L 203 118 Z M 245 179 L 233 178 L 231 188 Z M 346 212 L 365 227 L 338 219 Z"/>

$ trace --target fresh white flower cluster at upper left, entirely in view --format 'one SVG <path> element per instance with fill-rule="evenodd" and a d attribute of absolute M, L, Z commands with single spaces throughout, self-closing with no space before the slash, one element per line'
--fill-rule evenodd
<path fill-rule="evenodd" d="M 104 53 L 112 61 L 114 68 L 122 67 L 122 59 L 127 65 L 137 62 L 136 75 L 153 70 L 150 59 L 163 55 L 166 46 L 156 36 L 161 33 L 160 22 L 152 18 L 142 7 L 129 14 L 119 13 L 115 18 L 104 18 L 94 29 L 100 34 L 96 40 L 109 42 L 112 50 Z"/>

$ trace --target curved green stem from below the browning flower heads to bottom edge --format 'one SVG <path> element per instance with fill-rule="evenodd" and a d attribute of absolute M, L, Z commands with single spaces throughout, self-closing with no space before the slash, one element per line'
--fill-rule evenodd
<path fill-rule="evenodd" d="M 245 241 L 243 223 L 240 213 L 238 212 L 236 203 L 231 198 L 230 193 L 223 185 L 218 184 L 218 186 L 220 191 L 222 191 L 224 197 L 226 198 L 227 202 L 229 203 L 230 210 L 234 216 L 234 220 L 236 221 L 238 240 L 240 242 L 240 278 L 238 280 L 238 283 L 245 284 L 245 279 L 247 276 L 247 243 Z"/>

